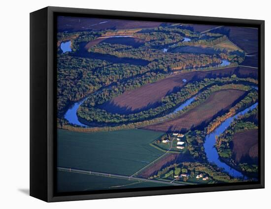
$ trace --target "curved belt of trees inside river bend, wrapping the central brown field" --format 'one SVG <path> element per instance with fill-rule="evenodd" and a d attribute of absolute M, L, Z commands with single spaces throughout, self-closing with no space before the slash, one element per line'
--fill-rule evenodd
<path fill-rule="evenodd" d="M 158 74 L 158 77 L 161 74 Z M 138 77 L 135 80 L 126 81 L 123 84 L 113 85 L 110 88 L 104 88 L 98 94 L 93 94 L 78 108 L 77 115 L 88 121 L 89 123 L 95 122 L 100 125 L 117 125 L 117 124 L 129 124 L 141 121 L 147 121 L 158 117 L 163 117 L 172 112 L 178 105 L 182 104 L 188 98 L 197 94 L 203 88 L 208 87 L 201 92 L 195 100 L 179 111 L 178 115 L 195 108 L 199 104 L 203 103 L 210 94 L 214 91 L 227 88 L 237 88 L 242 90 L 249 90 L 250 87 L 243 84 L 248 82 L 247 79 L 240 78 L 216 78 L 216 79 L 203 79 L 202 81 L 196 81 L 189 83 L 182 87 L 178 92 L 170 93 L 166 97 L 162 98 L 161 104 L 156 108 L 141 111 L 134 114 L 114 114 L 100 109 L 100 105 L 109 101 L 110 99 L 122 94 L 126 90 L 132 90 L 144 85 L 146 83 L 152 83 L 158 80 L 158 77 L 150 75 L 149 77 Z M 233 84 L 234 82 L 234 84 Z"/>

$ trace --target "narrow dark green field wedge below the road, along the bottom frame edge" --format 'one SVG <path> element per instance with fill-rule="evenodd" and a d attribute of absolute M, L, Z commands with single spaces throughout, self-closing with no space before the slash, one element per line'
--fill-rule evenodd
<path fill-rule="evenodd" d="M 90 191 L 104 189 L 127 189 L 167 186 L 163 183 L 141 182 L 100 175 L 58 171 L 58 192 Z"/>

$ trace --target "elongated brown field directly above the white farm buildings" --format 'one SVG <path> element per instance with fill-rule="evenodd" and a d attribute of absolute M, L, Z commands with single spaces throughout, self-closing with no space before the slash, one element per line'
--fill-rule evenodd
<path fill-rule="evenodd" d="M 214 116 L 221 115 L 221 113 L 229 110 L 244 94 L 245 91 L 237 89 L 216 91 L 202 104 L 184 113 L 180 117 L 161 124 L 145 126 L 143 129 L 164 132 L 174 130 L 186 132 L 195 127 L 204 127 L 214 118 Z"/>

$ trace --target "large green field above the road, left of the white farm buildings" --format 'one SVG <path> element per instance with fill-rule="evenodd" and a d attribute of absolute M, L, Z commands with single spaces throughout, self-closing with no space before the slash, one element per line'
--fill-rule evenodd
<path fill-rule="evenodd" d="M 131 175 L 164 154 L 149 145 L 164 134 L 149 130 L 83 133 L 58 130 L 58 167 Z"/>

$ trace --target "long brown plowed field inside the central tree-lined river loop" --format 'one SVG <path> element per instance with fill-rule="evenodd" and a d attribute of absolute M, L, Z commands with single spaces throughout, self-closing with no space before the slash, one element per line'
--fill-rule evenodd
<path fill-rule="evenodd" d="M 251 68 L 232 67 L 220 70 L 187 72 L 173 75 L 156 83 L 146 84 L 111 99 L 100 108 L 118 114 L 137 113 L 161 104 L 163 97 L 171 92 L 176 92 L 188 82 L 199 81 L 203 78 L 227 77 L 236 74 L 238 77 L 257 78 L 258 71 Z M 183 82 L 186 80 L 186 83 Z"/>

